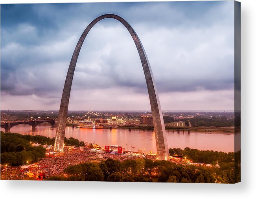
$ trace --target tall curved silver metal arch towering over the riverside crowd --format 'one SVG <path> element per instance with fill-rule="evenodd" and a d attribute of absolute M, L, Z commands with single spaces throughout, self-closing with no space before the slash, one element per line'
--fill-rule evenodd
<path fill-rule="evenodd" d="M 68 68 L 68 73 L 66 75 L 66 80 L 64 84 L 63 94 L 61 98 L 61 106 L 59 109 L 59 118 L 57 124 L 57 130 L 55 135 L 55 142 L 54 142 L 54 150 L 55 151 L 63 151 L 64 147 L 64 136 L 65 136 L 65 127 L 66 127 L 66 119 L 68 113 L 68 102 L 70 98 L 70 90 L 72 86 L 72 80 L 74 76 L 74 71 L 76 68 L 77 58 L 80 52 L 80 49 L 83 45 L 85 37 L 87 36 L 90 29 L 100 20 L 105 18 L 113 18 L 120 21 L 129 31 L 133 41 L 136 45 L 138 53 L 140 55 L 140 60 L 142 63 L 142 68 L 144 71 L 146 83 L 147 83 L 147 91 L 149 93 L 149 101 L 151 106 L 151 112 L 153 117 L 153 124 L 155 130 L 155 138 L 157 144 L 157 155 L 158 159 L 160 160 L 169 160 L 169 149 L 166 139 L 166 131 L 164 127 L 164 119 L 162 115 L 162 110 L 160 107 L 160 102 L 158 98 L 157 88 L 155 86 L 155 81 L 153 78 L 153 74 L 151 71 L 151 67 L 149 64 L 149 60 L 147 59 L 147 55 L 145 50 L 140 42 L 138 35 L 135 33 L 134 29 L 120 16 L 114 14 L 105 14 L 97 17 L 94 19 L 85 29 L 79 41 L 77 42 L 76 48 L 74 50 L 73 56 L 70 61 L 70 65 Z"/>

